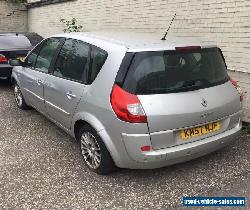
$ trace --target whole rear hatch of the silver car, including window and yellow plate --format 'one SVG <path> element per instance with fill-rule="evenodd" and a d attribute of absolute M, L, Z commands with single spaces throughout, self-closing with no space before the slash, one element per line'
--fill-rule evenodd
<path fill-rule="evenodd" d="M 120 85 L 138 96 L 155 149 L 230 128 L 230 116 L 241 109 L 240 95 L 218 48 L 139 52 L 132 57 Z"/>

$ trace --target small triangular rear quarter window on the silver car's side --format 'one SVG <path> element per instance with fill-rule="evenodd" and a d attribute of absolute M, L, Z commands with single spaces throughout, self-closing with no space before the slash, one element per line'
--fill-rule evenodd
<path fill-rule="evenodd" d="M 89 82 L 92 83 L 98 73 L 100 72 L 103 64 L 105 63 L 108 53 L 104 50 L 101 50 L 97 47 L 91 47 L 91 61 L 90 61 L 90 73 L 89 73 Z"/>

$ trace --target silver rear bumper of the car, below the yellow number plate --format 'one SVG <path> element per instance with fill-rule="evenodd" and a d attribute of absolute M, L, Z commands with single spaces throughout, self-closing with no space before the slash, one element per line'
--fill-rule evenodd
<path fill-rule="evenodd" d="M 127 153 L 132 159 L 132 161 L 127 162 L 122 167 L 133 169 L 160 168 L 203 156 L 236 140 L 240 134 L 241 127 L 241 122 L 239 122 L 234 128 L 215 136 L 149 152 L 140 151 L 142 146 L 150 145 L 149 135 L 122 134 Z"/>

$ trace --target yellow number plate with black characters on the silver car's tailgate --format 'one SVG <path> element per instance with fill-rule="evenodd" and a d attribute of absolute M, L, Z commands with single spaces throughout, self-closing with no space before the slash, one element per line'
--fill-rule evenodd
<path fill-rule="evenodd" d="M 214 133 L 220 130 L 220 128 L 221 128 L 220 122 L 213 122 L 203 126 L 181 130 L 180 136 L 182 140 L 187 140 L 194 137 L 203 136 L 209 133 Z"/>

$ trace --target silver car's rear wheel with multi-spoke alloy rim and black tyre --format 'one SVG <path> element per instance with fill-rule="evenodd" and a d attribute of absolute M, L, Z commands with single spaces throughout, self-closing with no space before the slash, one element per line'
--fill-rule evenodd
<path fill-rule="evenodd" d="M 97 174 L 110 174 L 116 167 L 104 142 L 95 129 L 84 125 L 79 131 L 81 153 L 87 167 Z"/>

